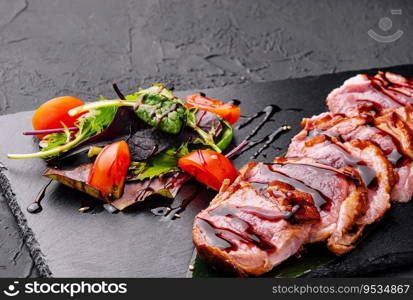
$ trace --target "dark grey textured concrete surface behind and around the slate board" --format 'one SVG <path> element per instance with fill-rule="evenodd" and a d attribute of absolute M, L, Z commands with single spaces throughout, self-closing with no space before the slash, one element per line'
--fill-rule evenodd
<path fill-rule="evenodd" d="M 407 64 L 412 14 L 408 0 L 0 0 L 0 114 L 112 96 L 113 81 L 194 89 Z M 404 34 L 378 43 L 369 29 Z M 0 276 L 36 276 L 2 197 Z"/>

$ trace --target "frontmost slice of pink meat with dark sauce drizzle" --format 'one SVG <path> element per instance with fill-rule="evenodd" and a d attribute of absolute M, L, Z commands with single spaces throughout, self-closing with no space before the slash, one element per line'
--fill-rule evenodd
<path fill-rule="evenodd" d="M 254 167 L 247 165 L 241 173 Z M 219 211 L 222 209 L 236 213 L 223 214 Z M 293 224 L 277 217 L 288 209 L 241 175 L 196 216 L 192 237 L 197 252 L 201 259 L 226 272 L 239 276 L 264 274 L 296 254 L 310 231 L 309 223 Z M 270 218 L 248 212 L 254 210 Z"/>

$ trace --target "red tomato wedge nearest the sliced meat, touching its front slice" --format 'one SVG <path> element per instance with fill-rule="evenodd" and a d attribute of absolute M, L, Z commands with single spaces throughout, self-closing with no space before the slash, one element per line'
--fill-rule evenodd
<path fill-rule="evenodd" d="M 224 179 L 228 178 L 232 183 L 238 176 L 238 171 L 231 161 L 212 150 L 188 153 L 179 159 L 178 166 L 216 191 L 221 188 Z"/>

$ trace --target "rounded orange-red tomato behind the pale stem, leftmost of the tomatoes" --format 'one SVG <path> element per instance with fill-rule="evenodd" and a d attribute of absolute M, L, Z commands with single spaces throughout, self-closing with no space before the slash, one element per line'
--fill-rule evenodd
<path fill-rule="evenodd" d="M 83 101 L 72 96 L 51 99 L 34 112 L 32 125 L 34 130 L 62 128 L 61 122 L 67 127 L 72 127 L 79 116 L 71 117 L 68 111 L 76 106 L 83 105 Z M 38 135 L 41 139 L 45 135 Z"/>

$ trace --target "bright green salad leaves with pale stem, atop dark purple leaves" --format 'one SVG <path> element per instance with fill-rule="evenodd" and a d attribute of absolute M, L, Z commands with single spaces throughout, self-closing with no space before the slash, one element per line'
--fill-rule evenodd
<path fill-rule="evenodd" d="M 64 132 L 46 135 L 40 141 L 39 152 L 10 154 L 9 158 L 64 157 L 69 150 L 75 150 L 88 144 L 89 140 L 92 141 L 102 135 L 105 129 L 109 130 L 109 126 L 116 125 L 117 128 L 129 126 L 125 118 L 115 117 L 120 113 L 120 107 L 134 113 L 132 115 L 136 120 L 132 120 L 133 122 L 143 122 L 147 124 L 145 126 L 149 125 L 149 128 L 152 128 L 151 132 L 155 129 L 164 135 L 163 141 L 156 140 L 151 132 L 149 134 L 152 136 L 143 137 L 146 140 L 156 140 L 159 144 L 163 143 L 163 150 L 154 151 L 153 155 L 144 159 L 132 157 L 128 180 L 151 179 L 165 173 L 179 171 L 178 160 L 185 154 L 194 149 L 204 148 L 221 152 L 233 137 L 231 125 L 221 117 L 204 111 L 200 114 L 201 112 L 196 108 L 187 108 L 184 101 L 178 99 L 165 85 L 154 84 L 147 89 L 139 89 L 134 94 L 126 95 L 124 99 L 108 100 L 101 96 L 98 101 L 75 107 L 69 111 L 69 115 L 79 115 L 75 123 L 77 130 L 69 130 L 62 124 Z M 133 135 L 134 132 L 130 134 Z M 131 145 L 131 142 L 128 143 Z M 145 141 L 141 138 L 136 143 L 144 144 Z M 155 145 L 155 148 L 158 146 Z"/>

